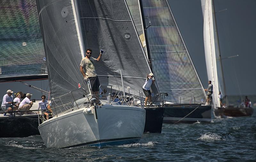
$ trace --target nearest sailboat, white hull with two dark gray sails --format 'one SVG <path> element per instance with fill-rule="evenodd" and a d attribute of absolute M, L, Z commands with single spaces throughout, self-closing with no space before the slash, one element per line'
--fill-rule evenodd
<path fill-rule="evenodd" d="M 46 147 L 138 142 L 146 116 L 139 89 L 150 68 L 125 1 L 36 3 L 54 114 L 38 126 Z M 103 105 L 93 103 L 91 97 L 97 96 L 79 71 L 86 48 L 93 53 L 104 49 L 95 63 L 100 88 L 109 93 L 100 98 Z M 118 94 L 121 99 L 114 103 Z"/>

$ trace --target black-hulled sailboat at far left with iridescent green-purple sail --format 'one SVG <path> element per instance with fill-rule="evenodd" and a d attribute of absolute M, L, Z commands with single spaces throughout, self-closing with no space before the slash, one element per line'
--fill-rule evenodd
<path fill-rule="evenodd" d="M 0 82 L 47 79 L 36 2 L 1 1 L 0 5 Z M 12 88 L 2 91 L 7 89 Z M 35 109 L 37 108 L 38 104 Z M 0 112 L 0 137 L 39 135 L 37 127 L 37 114 L 20 116 L 14 112 L 12 115 L 7 113 L 4 116 L 4 112 Z"/>

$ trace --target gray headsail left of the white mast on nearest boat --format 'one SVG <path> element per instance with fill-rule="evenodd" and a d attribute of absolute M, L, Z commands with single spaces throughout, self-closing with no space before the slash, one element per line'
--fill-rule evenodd
<path fill-rule="evenodd" d="M 79 70 L 82 48 L 72 2 L 36 1 L 55 115 L 73 108 L 75 100 L 89 94 Z"/>

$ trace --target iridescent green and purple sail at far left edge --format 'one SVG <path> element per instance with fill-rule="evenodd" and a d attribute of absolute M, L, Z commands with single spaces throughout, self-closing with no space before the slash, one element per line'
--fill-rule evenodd
<path fill-rule="evenodd" d="M 36 2 L 2 0 L 0 6 L 0 82 L 46 79 Z"/>

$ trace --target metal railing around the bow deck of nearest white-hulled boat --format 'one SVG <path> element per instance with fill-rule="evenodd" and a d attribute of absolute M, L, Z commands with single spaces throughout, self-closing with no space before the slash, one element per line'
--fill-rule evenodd
<path fill-rule="evenodd" d="M 100 85 L 100 93 L 96 95 L 86 95 L 84 89 L 80 88 L 70 91 L 67 94 L 54 97 L 51 99 L 51 104 L 54 105 L 51 107 L 51 112 L 47 109 L 38 110 L 39 123 L 44 122 L 46 118 L 48 118 L 44 115 L 45 112 L 48 114 L 49 118 L 51 118 L 58 116 L 58 114 L 64 114 L 75 109 L 93 105 L 112 104 L 139 106 L 144 108 L 143 93 L 140 90 L 131 90 L 130 87 L 127 87 L 127 89 L 128 93 L 124 94 L 122 88 L 114 87 L 112 85 Z"/>

